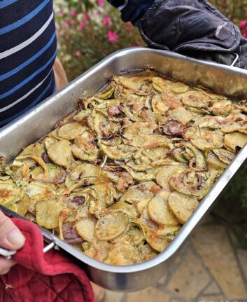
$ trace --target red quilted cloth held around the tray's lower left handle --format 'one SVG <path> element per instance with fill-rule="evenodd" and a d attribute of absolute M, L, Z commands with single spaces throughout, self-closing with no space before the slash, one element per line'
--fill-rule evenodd
<path fill-rule="evenodd" d="M 55 249 L 43 254 L 43 237 L 29 221 L 13 219 L 26 242 L 13 259 L 17 265 L 0 276 L 1 302 L 94 302 L 82 268 Z"/>

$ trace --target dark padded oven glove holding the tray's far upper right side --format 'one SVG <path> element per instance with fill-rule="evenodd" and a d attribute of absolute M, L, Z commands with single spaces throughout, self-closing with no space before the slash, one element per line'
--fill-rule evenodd
<path fill-rule="evenodd" d="M 136 26 L 152 48 L 247 69 L 247 40 L 206 0 L 155 0 Z"/>

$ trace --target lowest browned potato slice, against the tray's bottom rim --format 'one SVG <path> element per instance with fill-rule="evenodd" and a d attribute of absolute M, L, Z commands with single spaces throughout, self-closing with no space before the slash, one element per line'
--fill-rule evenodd
<path fill-rule="evenodd" d="M 115 266 L 128 266 L 139 262 L 141 262 L 141 258 L 138 249 L 132 245 L 114 247 L 104 261 L 104 263 L 114 264 Z"/>

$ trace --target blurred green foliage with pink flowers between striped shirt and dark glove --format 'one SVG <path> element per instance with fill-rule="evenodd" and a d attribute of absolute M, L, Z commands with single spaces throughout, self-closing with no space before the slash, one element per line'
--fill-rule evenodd
<path fill-rule="evenodd" d="M 137 29 L 102 1 L 55 0 L 58 56 L 69 81 L 116 50 L 144 45 Z"/>

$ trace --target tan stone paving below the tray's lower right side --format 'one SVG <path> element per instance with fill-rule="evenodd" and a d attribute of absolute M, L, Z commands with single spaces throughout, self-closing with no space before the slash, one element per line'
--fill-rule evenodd
<path fill-rule="evenodd" d="M 172 271 L 134 293 L 106 291 L 104 302 L 247 302 L 247 250 L 234 249 L 225 226 L 206 217 Z"/>

